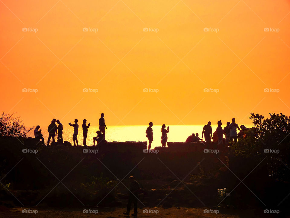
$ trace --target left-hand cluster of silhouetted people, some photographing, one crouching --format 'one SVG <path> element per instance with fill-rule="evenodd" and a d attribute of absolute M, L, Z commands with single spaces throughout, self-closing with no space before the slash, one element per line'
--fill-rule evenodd
<path fill-rule="evenodd" d="M 88 135 L 88 129 L 90 127 L 90 123 L 87 125 L 87 120 L 84 119 L 82 124 L 82 133 L 83 133 L 83 145 L 87 146 L 86 140 L 87 140 L 87 135 Z M 56 123 L 58 126 L 56 126 Z M 79 134 L 79 124 L 78 124 L 78 119 L 75 119 L 74 124 L 69 122 L 69 125 L 73 127 L 73 134 L 72 134 L 72 140 L 73 140 L 73 145 L 74 146 L 79 146 L 78 142 L 78 134 Z M 105 130 L 107 129 L 107 126 L 105 124 L 105 119 L 104 119 L 104 114 L 101 114 L 101 118 L 99 119 L 99 130 L 96 132 L 97 136 L 93 137 L 93 142 L 95 146 L 95 141 L 97 141 L 97 144 L 101 142 L 105 142 Z M 63 143 L 63 124 L 60 123 L 59 120 L 52 119 L 51 123 L 47 127 L 48 131 L 48 138 L 47 138 L 47 146 L 50 144 L 50 139 L 52 138 L 52 143 L 55 143 L 54 137 L 57 135 L 57 142 Z M 37 125 L 36 128 L 34 129 L 34 137 L 38 138 L 44 143 L 44 138 L 43 134 L 41 133 L 40 126 Z"/>

